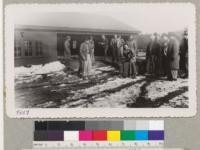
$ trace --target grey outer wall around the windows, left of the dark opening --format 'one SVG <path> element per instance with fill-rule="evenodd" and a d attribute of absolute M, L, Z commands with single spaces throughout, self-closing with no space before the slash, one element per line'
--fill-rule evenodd
<path fill-rule="evenodd" d="M 15 30 L 15 41 L 22 48 L 21 56 L 15 57 L 15 66 L 42 64 L 57 60 L 57 34 L 55 32 Z M 25 41 L 32 43 L 32 56 L 25 56 Z M 36 56 L 36 41 L 42 43 L 42 56 Z"/>

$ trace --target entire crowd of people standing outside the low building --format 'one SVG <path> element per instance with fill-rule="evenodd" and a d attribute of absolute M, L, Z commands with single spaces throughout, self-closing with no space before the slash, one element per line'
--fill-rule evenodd
<path fill-rule="evenodd" d="M 120 77 L 135 78 L 137 42 L 133 35 L 124 40 L 120 35 L 114 35 L 108 40 L 105 35 L 101 36 L 98 42 L 104 50 L 104 60 L 108 58 L 108 49 L 111 50 L 112 63 L 119 70 Z M 67 36 L 64 43 L 65 60 L 70 63 L 71 37 Z M 79 74 L 87 79 L 93 74 L 92 66 L 95 63 L 95 44 L 92 36 L 86 37 L 79 49 Z M 181 77 L 188 77 L 188 38 L 187 31 L 179 44 L 173 35 L 163 34 L 161 37 L 155 33 L 146 49 L 146 72 L 153 77 L 167 76 L 169 80 L 177 80 L 178 71 L 181 70 Z"/>

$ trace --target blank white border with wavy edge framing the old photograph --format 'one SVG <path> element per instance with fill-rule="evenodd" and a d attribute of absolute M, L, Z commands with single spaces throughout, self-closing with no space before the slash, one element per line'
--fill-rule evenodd
<path fill-rule="evenodd" d="M 16 12 L 79 11 L 84 8 L 123 7 L 130 5 L 181 5 L 189 9 L 189 108 L 16 108 L 14 90 L 14 22 Z M 66 9 L 68 8 L 68 9 Z M 196 96 L 196 8 L 193 3 L 93 3 L 93 4 L 12 4 L 5 8 L 5 96 L 6 112 L 12 118 L 131 118 L 131 117 L 191 117 L 197 112 Z"/>

